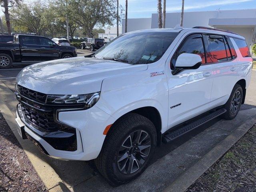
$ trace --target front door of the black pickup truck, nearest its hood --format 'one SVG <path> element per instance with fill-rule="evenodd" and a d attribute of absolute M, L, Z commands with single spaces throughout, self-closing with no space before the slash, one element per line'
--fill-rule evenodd
<path fill-rule="evenodd" d="M 54 60 L 59 58 L 59 46 L 46 37 L 39 37 L 42 60 Z"/>

